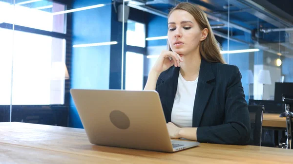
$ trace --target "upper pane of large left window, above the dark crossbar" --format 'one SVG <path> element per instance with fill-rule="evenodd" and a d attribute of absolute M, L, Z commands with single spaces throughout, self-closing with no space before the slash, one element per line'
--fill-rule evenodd
<path fill-rule="evenodd" d="M 66 33 L 65 5 L 49 0 L 0 0 L 0 23 L 15 24 L 44 31 Z M 55 14 L 53 14 L 55 13 Z"/>

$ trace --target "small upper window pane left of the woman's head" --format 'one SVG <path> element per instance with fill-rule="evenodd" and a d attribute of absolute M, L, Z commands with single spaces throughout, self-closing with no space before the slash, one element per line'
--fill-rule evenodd
<path fill-rule="evenodd" d="M 127 21 L 126 44 L 137 47 L 146 46 L 145 24 Z"/>

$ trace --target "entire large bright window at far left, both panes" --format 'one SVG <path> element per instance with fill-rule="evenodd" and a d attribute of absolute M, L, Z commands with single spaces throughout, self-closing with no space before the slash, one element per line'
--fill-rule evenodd
<path fill-rule="evenodd" d="M 66 17 L 56 12 L 65 9 L 51 0 L 0 0 L 0 105 L 64 104 Z"/>

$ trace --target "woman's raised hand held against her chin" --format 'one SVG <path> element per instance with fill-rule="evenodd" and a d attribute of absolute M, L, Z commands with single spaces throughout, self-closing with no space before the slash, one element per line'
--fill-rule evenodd
<path fill-rule="evenodd" d="M 171 57 L 171 60 L 169 57 Z M 173 65 L 175 67 L 180 67 L 180 62 L 183 62 L 183 59 L 180 57 L 180 55 L 172 51 L 163 50 L 151 71 L 160 74 Z"/>

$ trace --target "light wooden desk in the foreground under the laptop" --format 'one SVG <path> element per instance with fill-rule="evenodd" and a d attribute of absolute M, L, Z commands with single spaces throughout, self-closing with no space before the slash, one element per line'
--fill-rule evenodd
<path fill-rule="evenodd" d="M 88 142 L 84 129 L 0 123 L 0 163 L 14 164 L 292 164 L 293 150 L 202 143 L 163 153 Z"/>

